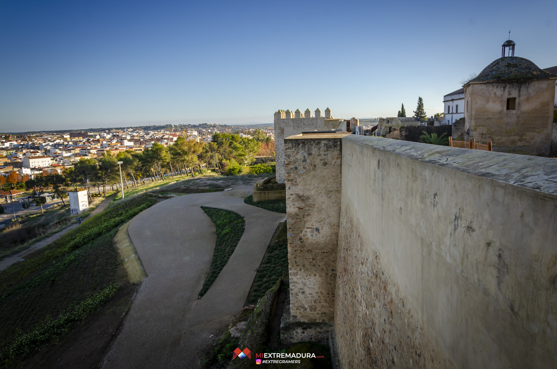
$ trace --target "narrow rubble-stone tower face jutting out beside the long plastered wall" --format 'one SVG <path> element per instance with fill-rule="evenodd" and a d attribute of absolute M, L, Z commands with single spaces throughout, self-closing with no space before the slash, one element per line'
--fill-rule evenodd
<path fill-rule="evenodd" d="M 286 138 L 291 320 L 332 322 L 343 135 Z"/>

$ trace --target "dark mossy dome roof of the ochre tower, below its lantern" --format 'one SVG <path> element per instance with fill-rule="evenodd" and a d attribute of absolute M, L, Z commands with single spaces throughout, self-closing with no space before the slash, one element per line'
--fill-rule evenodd
<path fill-rule="evenodd" d="M 540 69 L 528 59 L 518 56 L 506 56 L 486 66 L 472 81 L 522 80 L 554 77 L 555 75 Z"/>

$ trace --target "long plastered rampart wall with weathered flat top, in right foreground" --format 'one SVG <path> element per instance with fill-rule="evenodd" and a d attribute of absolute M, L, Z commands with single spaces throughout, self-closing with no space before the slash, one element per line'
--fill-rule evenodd
<path fill-rule="evenodd" d="M 555 159 L 357 135 L 342 149 L 342 367 L 555 367 Z"/>

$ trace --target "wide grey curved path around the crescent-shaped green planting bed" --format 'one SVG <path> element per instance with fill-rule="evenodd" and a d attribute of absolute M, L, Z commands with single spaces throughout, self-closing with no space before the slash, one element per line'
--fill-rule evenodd
<path fill-rule="evenodd" d="M 285 214 L 246 205 L 253 186 L 171 198 L 140 213 L 129 235 L 147 278 L 103 368 L 197 368 L 211 334 L 240 312 L 256 269 Z M 246 229 L 207 294 L 197 300 L 216 242 L 200 206 L 232 210 Z M 232 353 L 231 353 L 232 355 Z"/>

